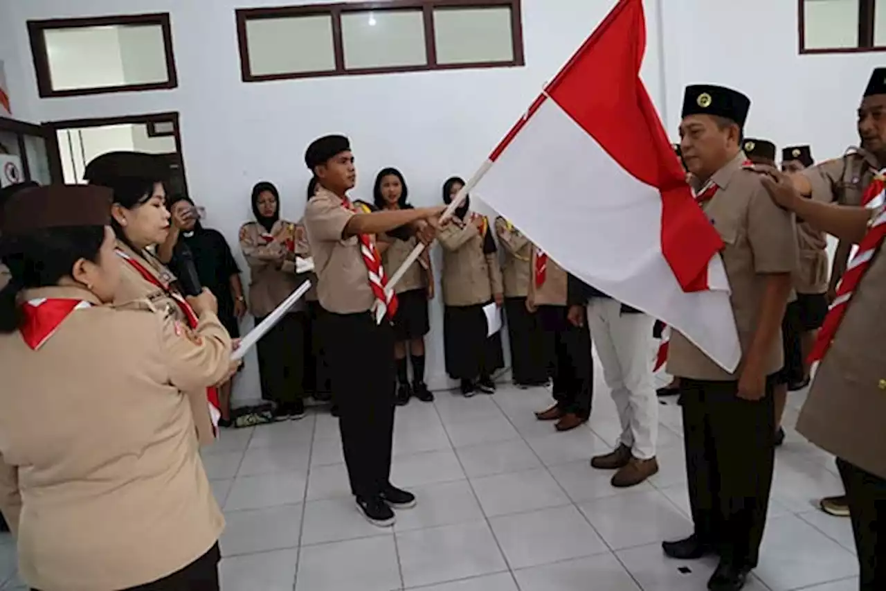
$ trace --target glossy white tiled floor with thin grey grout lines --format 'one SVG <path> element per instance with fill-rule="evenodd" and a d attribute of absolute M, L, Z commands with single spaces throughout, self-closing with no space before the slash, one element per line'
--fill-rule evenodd
<path fill-rule="evenodd" d="M 599 374 L 599 372 L 598 372 Z M 851 526 L 820 513 L 842 492 L 833 459 L 792 429 L 778 452 L 766 540 L 750 591 L 858 588 Z M 226 431 L 206 453 L 224 508 L 225 591 L 702 591 L 715 563 L 665 558 L 688 534 L 680 410 L 660 406 L 661 471 L 631 490 L 588 465 L 618 437 L 597 384 L 588 426 L 558 434 L 532 412 L 547 390 L 494 397 L 438 393 L 397 412 L 392 480 L 418 506 L 392 530 L 357 513 L 328 414 Z M 19 589 L 11 540 L 0 540 L 0 591 Z M 5 586 L 3 585 L 3 581 Z"/>

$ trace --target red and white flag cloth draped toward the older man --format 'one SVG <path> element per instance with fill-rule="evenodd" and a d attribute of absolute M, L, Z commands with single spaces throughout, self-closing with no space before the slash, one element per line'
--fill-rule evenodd
<path fill-rule="evenodd" d="M 477 193 L 563 268 L 741 357 L 719 250 L 640 79 L 641 0 L 621 0 L 495 148 Z"/>

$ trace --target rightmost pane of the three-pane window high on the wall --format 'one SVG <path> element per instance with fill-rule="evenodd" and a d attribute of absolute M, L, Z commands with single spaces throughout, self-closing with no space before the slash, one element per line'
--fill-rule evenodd
<path fill-rule="evenodd" d="M 437 63 L 514 61 L 510 8 L 434 11 Z"/>

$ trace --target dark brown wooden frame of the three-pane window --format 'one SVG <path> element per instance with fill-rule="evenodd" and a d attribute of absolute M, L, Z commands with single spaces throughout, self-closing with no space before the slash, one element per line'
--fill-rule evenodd
<path fill-rule="evenodd" d="M 428 70 L 458 70 L 478 67 L 520 67 L 525 66 L 523 45 L 523 19 L 521 0 L 390 0 L 388 2 L 361 2 L 338 4 L 307 4 L 300 6 L 277 6 L 273 8 L 245 8 L 236 11 L 237 44 L 240 48 L 240 73 L 245 83 L 268 82 L 272 80 L 293 80 L 325 76 L 395 74 L 400 72 L 424 72 Z M 437 62 L 437 43 L 434 32 L 434 11 L 464 10 L 471 8 L 509 8 L 511 42 L 514 59 L 510 61 L 478 61 L 457 64 Z M 345 43 L 342 35 L 341 16 L 346 12 L 396 12 L 419 11 L 424 17 L 424 45 L 427 64 L 421 66 L 394 67 L 345 67 Z M 281 74 L 253 75 L 249 61 L 249 39 L 246 23 L 249 20 L 285 19 L 309 16 L 330 16 L 332 19 L 332 51 L 335 54 L 335 69 L 325 72 L 285 72 Z"/>

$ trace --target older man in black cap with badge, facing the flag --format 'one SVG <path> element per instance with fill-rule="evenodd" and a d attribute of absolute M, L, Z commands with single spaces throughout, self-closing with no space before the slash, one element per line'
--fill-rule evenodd
<path fill-rule="evenodd" d="M 734 373 L 673 331 L 667 361 L 680 378 L 689 501 L 695 532 L 664 542 L 681 560 L 716 552 L 708 588 L 741 589 L 757 566 L 772 487 L 774 376 L 781 369 L 781 319 L 797 266 L 794 219 L 746 169 L 742 128 L 750 99 L 738 91 L 686 89 L 680 138 L 696 199 L 723 239 L 721 251 L 742 346 Z"/>

